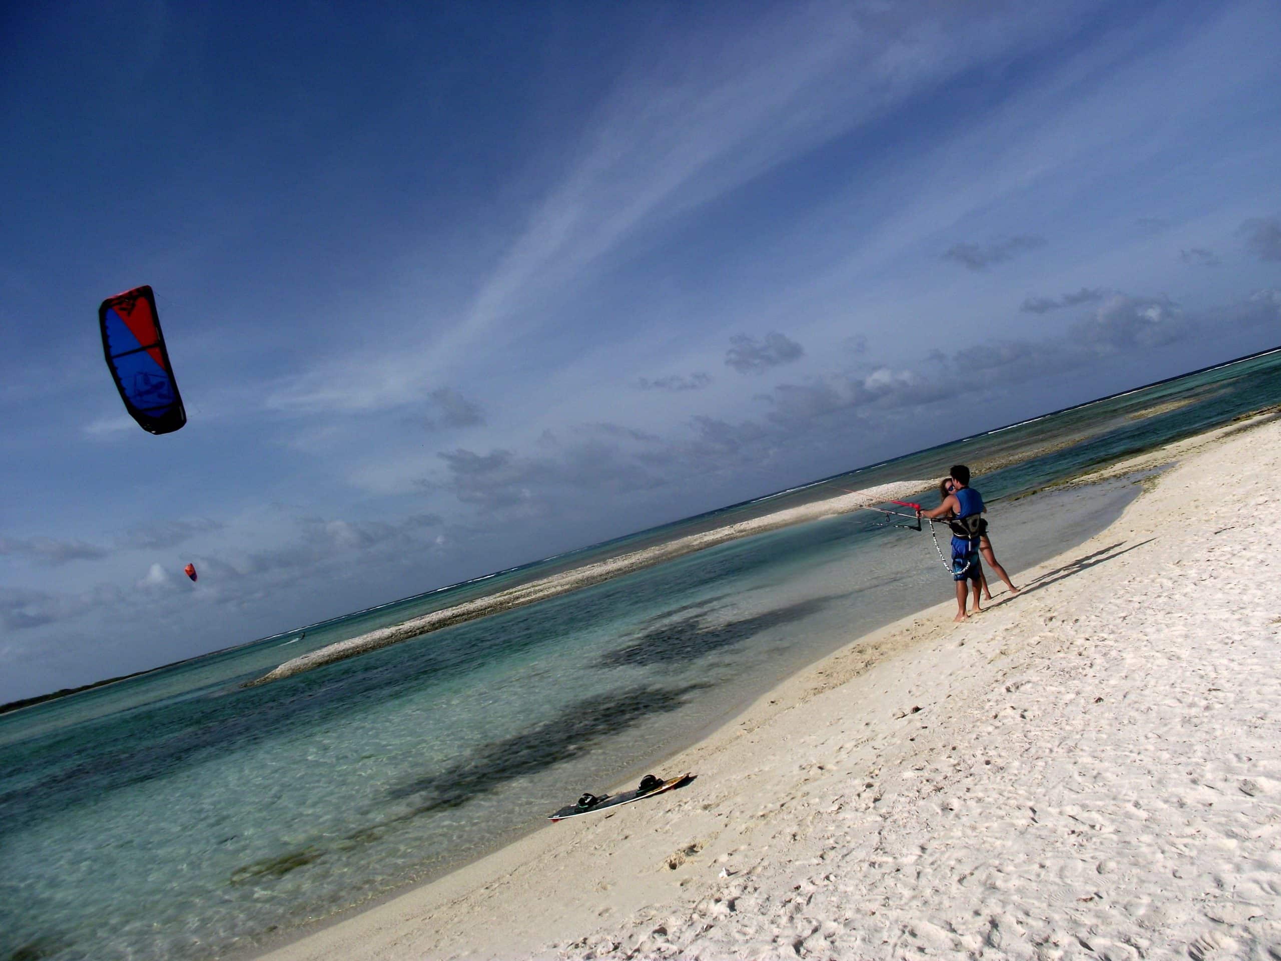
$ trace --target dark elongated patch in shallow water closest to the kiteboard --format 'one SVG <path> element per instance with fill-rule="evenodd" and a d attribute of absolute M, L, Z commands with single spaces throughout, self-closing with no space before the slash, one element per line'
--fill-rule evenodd
<path fill-rule="evenodd" d="M 387 793 L 391 798 L 420 796 L 415 814 L 461 807 L 478 794 L 492 792 L 507 782 L 585 755 L 598 742 L 646 718 L 675 711 L 685 703 L 689 694 L 708 687 L 711 686 L 635 687 L 575 701 L 551 720 L 484 744 L 465 761 L 411 778 L 388 788 Z"/>

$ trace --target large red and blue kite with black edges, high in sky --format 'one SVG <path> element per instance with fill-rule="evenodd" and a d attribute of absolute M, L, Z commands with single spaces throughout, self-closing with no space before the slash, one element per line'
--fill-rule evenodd
<path fill-rule="evenodd" d="M 156 299 L 147 286 L 108 297 L 97 309 L 102 352 L 129 415 L 143 431 L 167 434 L 187 423 Z"/>

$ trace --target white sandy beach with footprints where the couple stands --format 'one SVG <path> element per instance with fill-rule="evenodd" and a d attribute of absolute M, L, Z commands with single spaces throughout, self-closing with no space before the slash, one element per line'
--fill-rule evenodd
<path fill-rule="evenodd" d="M 1281 957 L 1281 420 L 1106 473 L 1171 460 L 1002 555 L 1021 595 L 953 625 L 940 573 L 656 766 L 685 787 L 268 957 Z"/>

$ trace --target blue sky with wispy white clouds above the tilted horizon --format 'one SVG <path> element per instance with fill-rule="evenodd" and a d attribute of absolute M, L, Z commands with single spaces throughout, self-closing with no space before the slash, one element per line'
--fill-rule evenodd
<path fill-rule="evenodd" d="M 0 37 L 0 700 L 1281 343 L 1276 3 L 83 3 Z M 96 328 L 141 283 L 164 437 Z"/>

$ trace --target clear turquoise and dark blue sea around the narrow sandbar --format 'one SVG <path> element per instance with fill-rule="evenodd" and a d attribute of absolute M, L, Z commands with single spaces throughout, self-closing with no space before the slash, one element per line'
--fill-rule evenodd
<path fill-rule="evenodd" d="M 287 937 L 584 791 L 670 774 L 674 751 L 952 584 L 927 534 L 862 511 L 245 687 L 282 661 L 956 461 L 985 466 L 999 556 L 1024 569 L 1104 529 L 1138 491 L 1056 481 L 1277 404 L 1281 352 L 0 715 L 0 958 L 216 957 Z"/>

